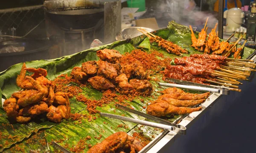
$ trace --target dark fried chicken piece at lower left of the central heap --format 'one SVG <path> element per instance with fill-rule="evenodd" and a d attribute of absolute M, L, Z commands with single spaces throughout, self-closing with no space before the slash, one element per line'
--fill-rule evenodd
<path fill-rule="evenodd" d="M 113 89 L 115 86 L 107 79 L 102 76 L 95 76 L 88 79 L 93 88 L 97 90 L 106 90 L 106 89 Z"/>

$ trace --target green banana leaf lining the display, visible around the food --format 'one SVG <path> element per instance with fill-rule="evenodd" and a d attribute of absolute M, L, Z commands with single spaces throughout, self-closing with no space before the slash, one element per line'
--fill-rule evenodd
<path fill-rule="evenodd" d="M 190 54 L 199 53 L 190 46 L 191 40 L 188 30 L 189 29 L 186 26 L 171 22 L 168 26 L 168 29 L 158 30 L 155 34 L 183 46 L 190 52 Z M 145 36 L 139 36 L 136 38 L 132 38 L 131 40 L 117 41 L 108 45 L 99 46 L 93 49 L 87 49 L 85 51 L 69 56 L 64 56 L 62 58 L 56 58 L 52 60 L 29 61 L 26 62 L 26 66 L 47 69 L 47 78 L 49 80 L 53 80 L 61 74 L 69 75 L 74 66 L 81 66 L 81 64 L 86 61 L 98 60 L 99 58 L 96 56 L 96 51 L 99 49 L 116 49 L 121 54 L 124 54 L 125 52 L 131 52 L 132 50 L 136 49 L 136 47 L 143 48 L 145 52 L 148 52 L 152 49 L 157 50 L 163 53 L 165 57 L 177 57 L 176 55 L 169 54 L 165 50 L 160 49 L 158 46 L 154 46 L 154 44 L 150 44 L 148 38 L 146 38 Z M 4 99 L 9 98 L 13 92 L 16 92 L 20 89 L 16 85 L 16 78 L 17 75 L 20 73 L 21 66 L 22 64 L 16 64 L 14 66 L 11 66 L 6 71 L 0 72 L 0 95 Z M 158 78 L 161 81 L 162 75 L 154 74 L 151 76 L 151 78 Z M 139 110 L 145 113 L 144 108 L 146 104 L 149 101 L 157 98 L 160 94 L 159 91 L 165 89 L 165 87 L 159 87 L 154 79 L 151 80 L 151 83 L 154 87 L 154 92 L 152 93 L 153 96 L 137 97 L 134 98 L 132 101 L 127 101 L 130 103 L 130 106 L 133 107 L 135 110 Z M 73 86 L 76 86 L 76 84 L 73 84 Z M 87 98 L 96 100 L 102 98 L 102 93 L 97 91 L 96 89 L 93 89 L 91 87 L 83 87 L 82 90 L 83 92 L 81 92 L 80 94 L 83 94 Z M 142 99 L 143 101 L 141 101 Z M 142 131 L 143 133 L 145 133 L 145 136 L 148 136 L 148 138 L 151 139 L 154 139 L 154 136 L 157 136 L 157 134 L 160 133 L 160 130 L 155 130 L 151 127 L 138 128 L 140 127 L 140 125 L 101 117 L 99 116 L 99 114 L 93 115 L 93 118 L 95 119 L 93 119 L 92 121 L 88 121 L 88 116 L 90 116 L 90 114 L 88 114 L 86 110 L 87 105 L 83 104 L 82 102 L 76 101 L 76 98 L 71 98 L 70 103 L 72 113 L 79 113 L 81 115 L 87 116 L 87 118 L 84 117 L 81 119 L 81 121 L 72 121 L 71 119 L 68 119 L 62 121 L 60 124 L 55 124 L 49 122 L 47 118 L 39 116 L 39 118 L 41 118 L 40 121 L 33 120 L 29 124 L 12 124 L 12 127 L 9 125 L 4 126 L 6 124 L 9 124 L 9 121 L 7 120 L 3 108 L 0 108 L 0 132 L 2 135 L 0 137 L 0 146 L 2 146 L 0 147 L 0 152 L 20 152 L 20 148 L 24 152 L 38 149 L 43 152 L 46 152 L 45 150 L 52 152 L 55 150 L 55 147 L 51 145 L 52 140 L 58 141 L 59 144 L 61 144 L 68 150 L 73 150 L 77 148 L 79 146 L 78 144 L 81 143 L 81 140 L 85 140 L 86 143 L 82 148 L 82 152 L 87 152 L 87 145 L 94 145 L 96 143 L 99 143 L 106 137 L 118 131 L 125 131 L 130 135 L 132 135 L 132 133 L 134 132 Z M 1 99 L 0 104 L 0 106 L 2 106 Z M 96 110 L 105 113 L 125 115 L 132 118 L 145 119 L 135 114 L 116 109 L 115 101 L 109 104 L 105 104 L 103 107 L 97 107 Z M 169 121 L 174 121 L 179 116 L 180 115 L 175 115 L 174 117 L 170 117 L 167 119 L 169 119 Z M 37 133 L 38 131 L 42 132 Z M 87 136 L 90 136 L 91 139 L 86 140 L 85 138 Z M 8 138 L 12 138 L 12 140 Z M 32 138 L 34 139 L 32 140 Z M 42 143 L 42 141 L 36 138 L 41 138 L 41 140 L 46 143 Z M 7 140 L 8 143 L 6 143 Z"/>

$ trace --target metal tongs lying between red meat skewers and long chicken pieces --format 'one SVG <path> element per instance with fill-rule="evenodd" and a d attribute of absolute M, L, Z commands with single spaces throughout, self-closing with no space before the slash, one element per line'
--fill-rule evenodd
<path fill-rule="evenodd" d="M 161 82 L 159 82 L 158 84 L 160 86 L 177 87 L 177 88 L 197 90 L 197 91 L 207 91 L 212 93 L 218 93 L 221 95 L 228 95 L 230 93 L 230 89 L 228 87 L 198 84 L 194 82 L 182 81 L 182 80 L 177 80 L 173 78 L 166 78 L 166 81 L 173 82 L 176 84 L 161 83 Z"/>

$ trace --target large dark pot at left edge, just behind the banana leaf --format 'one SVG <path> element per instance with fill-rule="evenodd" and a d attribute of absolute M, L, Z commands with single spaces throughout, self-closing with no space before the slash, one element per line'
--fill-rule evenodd
<path fill-rule="evenodd" d="M 0 49 L 7 46 L 25 47 L 23 52 L 10 52 L 0 54 L 0 72 L 14 64 L 26 61 L 49 59 L 49 40 L 13 40 L 0 42 Z"/>

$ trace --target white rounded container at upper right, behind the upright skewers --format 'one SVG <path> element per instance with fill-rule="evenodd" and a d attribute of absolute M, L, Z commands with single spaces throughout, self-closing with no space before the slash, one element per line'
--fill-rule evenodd
<path fill-rule="evenodd" d="M 244 23 L 244 12 L 239 8 L 232 8 L 224 12 L 227 19 L 226 32 L 234 32 Z"/>

